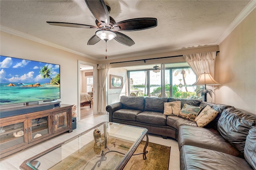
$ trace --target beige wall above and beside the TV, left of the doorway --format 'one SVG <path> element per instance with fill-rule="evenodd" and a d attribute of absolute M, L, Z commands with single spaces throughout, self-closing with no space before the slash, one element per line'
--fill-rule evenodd
<path fill-rule="evenodd" d="M 60 64 L 59 101 L 62 104 L 78 104 L 78 60 L 94 64 L 96 61 L 6 32 L 1 32 L 0 36 L 1 55 Z"/>

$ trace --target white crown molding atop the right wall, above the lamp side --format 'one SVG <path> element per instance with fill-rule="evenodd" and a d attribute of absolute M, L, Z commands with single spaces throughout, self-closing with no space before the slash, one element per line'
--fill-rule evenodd
<path fill-rule="evenodd" d="M 249 2 L 249 4 L 247 4 L 244 10 L 240 12 L 240 14 L 234 19 L 234 21 L 228 26 L 226 31 L 218 38 L 216 44 L 220 45 L 220 43 L 222 43 L 225 40 L 225 38 L 228 37 L 228 35 L 236 28 L 236 26 L 238 26 L 238 24 L 240 24 L 240 22 L 242 22 L 242 20 L 244 20 L 246 16 L 248 16 L 255 8 L 256 0 L 252 0 L 251 2 Z"/>

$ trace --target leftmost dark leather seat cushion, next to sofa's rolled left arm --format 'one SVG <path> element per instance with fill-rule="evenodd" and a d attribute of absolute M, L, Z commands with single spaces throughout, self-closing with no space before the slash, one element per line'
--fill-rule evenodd
<path fill-rule="evenodd" d="M 113 112 L 114 119 L 136 121 L 136 117 L 142 111 L 135 109 L 120 109 Z"/>

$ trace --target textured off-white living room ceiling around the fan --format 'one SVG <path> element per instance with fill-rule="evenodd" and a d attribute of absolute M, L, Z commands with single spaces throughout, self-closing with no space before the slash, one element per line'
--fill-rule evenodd
<path fill-rule="evenodd" d="M 116 22 L 131 18 L 157 18 L 148 30 L 122 32 L 135 45 L 107 42 L 108 59 L 219 45 L 255 8 L 246 0 L 105 0 Z M 98 61 L 105 60 L 106 43 L 87 45 L 95 29 L 51 26 L 46 21 L 95 26 L 84 0 L 0 0 L 1 30 L 52 45 Z"/>

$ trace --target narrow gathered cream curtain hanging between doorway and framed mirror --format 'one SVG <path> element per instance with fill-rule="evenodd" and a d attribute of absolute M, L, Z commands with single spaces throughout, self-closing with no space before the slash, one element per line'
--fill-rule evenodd
<path fill-rule="evenodd" d="M 104 105 L 104 91 L 103 88 L 106 84 L 106 77 L 108 75 L 108 70 L 110 68 L 110 63 L 106 64 L 99 64 L 98 70 L 99 70 L 99 102 L 98 102 L 98 113 L 103 113 L 103 105 Z"/>

